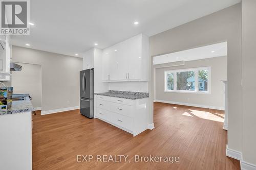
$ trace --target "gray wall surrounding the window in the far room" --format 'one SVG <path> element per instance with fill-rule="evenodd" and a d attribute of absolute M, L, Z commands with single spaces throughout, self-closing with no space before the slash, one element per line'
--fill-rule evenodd
<path fill-rule="evenodd" d="M 191 94 L 164 91 L 164 71 L 184 68 L 211 67 L 211 93 Z M 186 61 L 183 66 L 156 68 L 156 100 L 172 101 L 202 105 L 205 107 L 223 109 L 225 107 L 225 84 L 227 80 L 227 57 L 215 57 L 202 60 Z"/>

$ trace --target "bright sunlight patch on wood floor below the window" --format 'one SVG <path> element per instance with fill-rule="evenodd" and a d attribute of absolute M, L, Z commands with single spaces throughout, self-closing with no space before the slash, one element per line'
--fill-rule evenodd
<path fill-rule="evenodd" d="M 182 113 L 182 115 L 190 116 L 190 117 L 199 117 L 207 120 L 213 120 L 216 122 L 224 122 L 224 114 L 210 113 L 210 112 L 193 110 L 193 109 L 188 109 L 188 110 L 189 111 Z"/>

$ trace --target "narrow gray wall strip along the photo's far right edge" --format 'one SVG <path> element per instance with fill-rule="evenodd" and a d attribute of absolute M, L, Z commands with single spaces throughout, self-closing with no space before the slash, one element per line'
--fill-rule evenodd
<path fill-rule="evenodd" d="M 256 165 L 256 1 L 242 1 L 243 55 L 243 159 Z"/>

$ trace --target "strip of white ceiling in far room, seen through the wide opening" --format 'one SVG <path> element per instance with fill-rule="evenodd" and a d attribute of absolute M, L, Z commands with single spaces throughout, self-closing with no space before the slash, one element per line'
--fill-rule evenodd
<path fill-rule="evenodd" d="M 154 65 L 176 61 L 191 61 L 205 58 L 227 56 L 227 42 L 201 46 L 176 53 L 169 53 L 153 58 Z"/>

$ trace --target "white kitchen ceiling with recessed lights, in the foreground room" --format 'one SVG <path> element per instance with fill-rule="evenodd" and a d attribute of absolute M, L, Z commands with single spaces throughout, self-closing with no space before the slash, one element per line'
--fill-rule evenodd
<path fill-rule="evenodd" d="M 105 48 L 140 33 L 148 36 L 241 2 L 241 0 L 32 0 L 29 36 L 13 45 L 81 56 L 97 42 Z M 139 25 L 134 25 L 139 21 Z"/>

